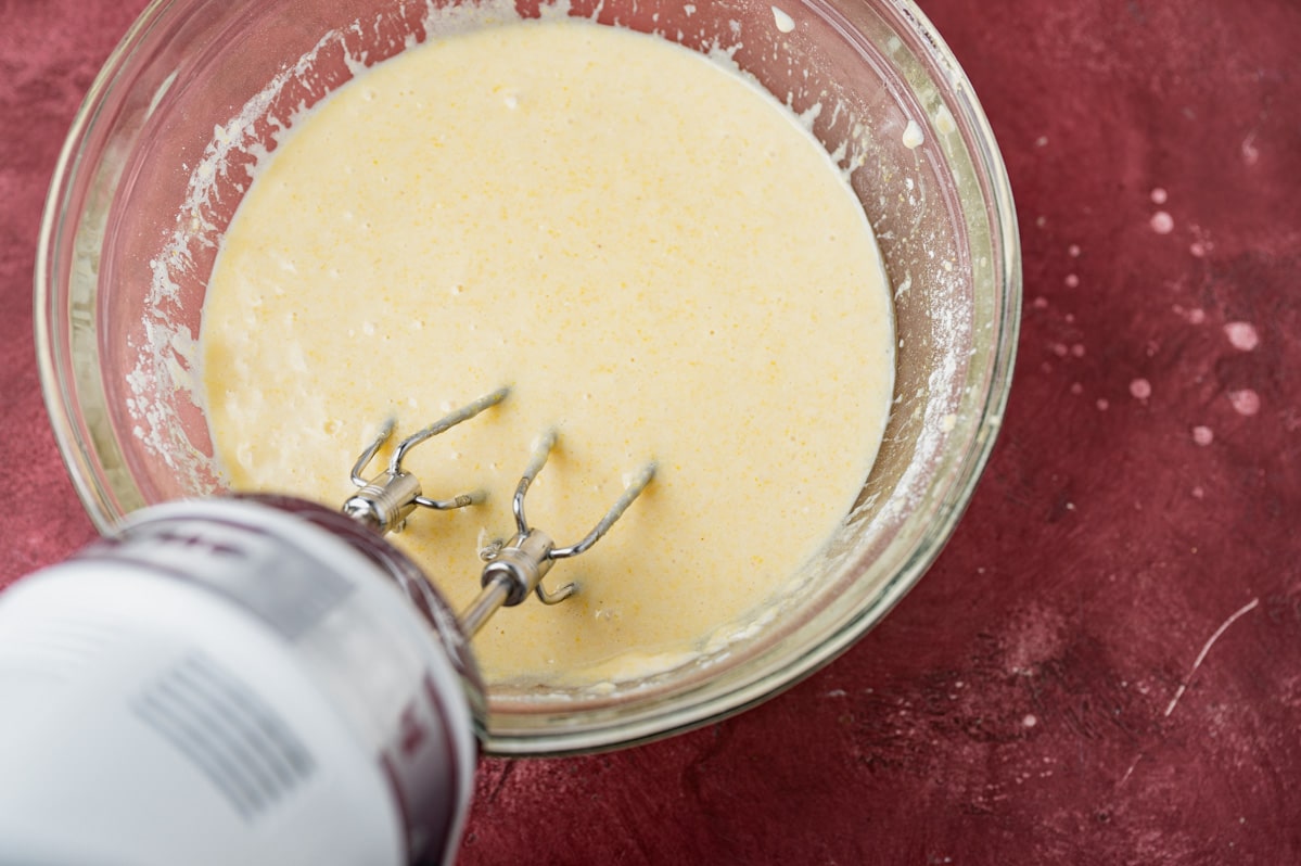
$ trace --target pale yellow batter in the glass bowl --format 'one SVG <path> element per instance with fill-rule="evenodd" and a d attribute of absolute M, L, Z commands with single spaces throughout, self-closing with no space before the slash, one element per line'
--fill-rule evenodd
<path fill-rule="evenodd" d="M 514 529 L 578 541 L 647 460 L 647 492 L 475 648 L 490 681 L 666 667 L 782 585 L 847 514 L 894 378 L 870 228 L 775 99 L 664 39 L 580 21 L 435 40 L 340 88 L 259 169 L 202 329 L 234 489 L 340 503 L 389 416 L 425 495 L 393 540 L 463 607 Z M 381 468 L 379 460 L 372 473 Z"/>

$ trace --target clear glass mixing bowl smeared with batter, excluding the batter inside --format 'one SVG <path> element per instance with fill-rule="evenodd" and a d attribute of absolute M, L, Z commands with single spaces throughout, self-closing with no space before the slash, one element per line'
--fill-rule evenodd
<path fill-rule="evenodd" d="M 498 754 L 611 748 L 690 728 L 774 694 L 863 636 L 935 559 L 971 498 L 1007 399 L 1020 312 L 998 147 L 912 3 L 584 0 L 565 9 L 730 52 L 811 120 L 843 165 L 857 166 L 851 182 L 894 287 L 895 402 L 857 505 L 791 590 L 739 629 L 743 638 L 604 689 L 493 688 L 485 746 Z M 46 402 L 101 531 L 141 506 L 221 490 L 189 359 L 246 169 L 280 124 L 359 65 L 428 38 L 442 26 L 433 18 L 450 27 L 484 18 L 427 12 L 407 0 L 159 0 L 109 57 L 55 173 L 35 291 Z M 520 0 L 498 17 L 537 12 L 536 0 Z"/>

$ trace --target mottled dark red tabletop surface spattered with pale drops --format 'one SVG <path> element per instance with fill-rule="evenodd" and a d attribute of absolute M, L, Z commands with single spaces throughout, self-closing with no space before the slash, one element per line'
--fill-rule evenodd
<path fill-rule="evenodd" d="M 60 142 L 142 5 L 0 5 L 0 585 L 92 536 L 31 270 Z M 761 707 L 484 762 L 463 862 L 1301 862 L 1301 5 L 922 5 L 1024 242 L 967 518 L 879 628 Z"/>

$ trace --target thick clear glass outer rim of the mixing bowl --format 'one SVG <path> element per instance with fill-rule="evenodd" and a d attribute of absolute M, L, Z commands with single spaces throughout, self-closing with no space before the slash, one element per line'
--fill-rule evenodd
<path fill-rule="evenodd" d="M 817 0 L 808 1 L 812 5 Z M 33 317 L 38 373 L 60 456 L 78 498 L 101 534 L 111 533 L 120 519 L 118 512 L 129 508 L 120 506 L 103 473 L 96 472 L 104 467 L 104 462 L 78 411 L 83 404 L 79 403 L 82 395 L 74 376 L 74 359 L 66 354 L 69 325 L 66 315 L 60 316 L 61 312 L 66 313 L 61 307 L 66 300 L 66 291 L 53 269 L 59 267 L 59 244 L 74 242 L 72 233 L 61 237 L 60 230 L 72 199 L 73 181 L 85 170 L 87 133 L 114 87 L 118 70 L 130 60 L 157 17 L 173 3 L 174 0 L 152 0 L 95 77 L 64 140 L 40 220 Z M 960 459 L 954 460 L 947 488 L 939 497 L 932 521 L 912 544 L 902 566 L 881 588 L 877 601 L 853 611 L 839 628 L 829 632 L 808 651 L 788 654 L 781 663 L 769 661 L 731 688 L 709 694 L 703 701 L 667 707 L 656 703 L 649 711 L 618 726 L 528 728 L 515 733 L 494 733 L 489 724 L 483 742 L 488 754 L 544 755 L 624 748 L 721 720 L 796 685 L 866 635 L 917 584 L 939 557 L 971 502 L 1002 424 L 1020 332 L 1023 273 L 1011 182 L 993 129 L 971 82 L 930 20 L 913 0 L 882 0 L 879 8 L 892 10 L 895 23 L 913 31 L 917 48 L 926 55 L 925 60 L 947 78 L 946 104 L 960 113 L 960 124 L 969 129 L 971 139 L 967 143 L 980 181 L 991 244 L 1000 254 L 1000 261 L 994 268 L 999 277 L 999 294 L 993 311 L 997 334 L 993 352 L 980 367 L 984 374 L 984 399 L 971 404 L 971 410 L 978 412 L 978 423 L 971 438 L 964 442 Z M 117 447 L 117 443 L 113 442 L 112 447 Z M 958 456 L 955 449 L 955 458 Z"/>

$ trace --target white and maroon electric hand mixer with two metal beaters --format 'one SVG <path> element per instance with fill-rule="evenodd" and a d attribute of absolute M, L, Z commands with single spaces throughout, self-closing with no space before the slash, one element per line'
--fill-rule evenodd
<path fill-rule="evenodd" d="M 289 497 L 144 508 L 117 533 L 0 596 L 0 863 L 385 863 L 454 858 L 474 789 L 484 688 L 467 640 L 548 590 L 649 484 L 648 464 L 579 542 L 557 546 L 515 490 L 515 533 L 481 551 L 459 616 L 381 536 L 424 495 L 422 442 L 496 406 L 493 391 L 399 442 L 385 424 L 342 514 Z"/>

